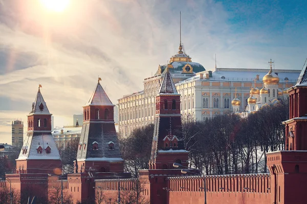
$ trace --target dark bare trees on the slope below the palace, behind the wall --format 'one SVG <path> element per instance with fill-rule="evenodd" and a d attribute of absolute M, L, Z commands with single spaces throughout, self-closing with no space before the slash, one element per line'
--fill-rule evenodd
<path fill-rule="evenodd" d="M 201 122 L 183 117 L 182 134 L 190 151 L 190 166 L 208 175 L 267 172 L 266 153 L 284 148 L 284 125 L 289 117 L 287 100 L 262 107 L 247 117 L 229 113 Z M 125 168 L 137 177 L 148 168 L 153 124 L 121 139 Z"/>

